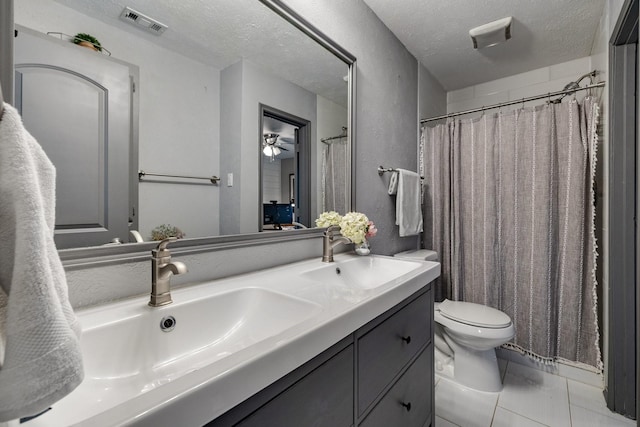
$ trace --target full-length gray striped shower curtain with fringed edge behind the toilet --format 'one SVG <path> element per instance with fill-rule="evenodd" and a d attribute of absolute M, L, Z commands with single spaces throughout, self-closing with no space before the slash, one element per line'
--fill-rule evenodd
<path fill-rule="evenodd" d="M 437 297 L 506 312 L 511 346 L 601 369 L 593 179 L 598 105 L 587 98 L 422 129 L 425 245 Z"/>

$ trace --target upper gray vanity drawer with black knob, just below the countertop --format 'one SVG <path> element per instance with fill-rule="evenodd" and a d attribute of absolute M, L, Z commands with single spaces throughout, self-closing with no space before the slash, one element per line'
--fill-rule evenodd
<path fill-rule="evenodd" d="M 431 291 L 367 332 L 358 341 L 358 415 L 383 392 L 431 338 Z"/>

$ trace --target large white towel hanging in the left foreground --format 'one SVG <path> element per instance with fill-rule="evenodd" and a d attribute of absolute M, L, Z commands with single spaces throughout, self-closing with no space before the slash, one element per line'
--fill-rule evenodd
<path fill-rule="evenodd" d="M 0 421 L 35 415 L 83 379 L 80 325 L 53 241 L 55 168 L 4 104 L 0 120 Z"/>

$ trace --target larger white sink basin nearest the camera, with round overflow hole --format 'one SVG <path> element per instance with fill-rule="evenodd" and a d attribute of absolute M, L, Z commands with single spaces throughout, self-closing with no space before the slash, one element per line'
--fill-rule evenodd
<path fill-rule="evenodd" d="M 113 406 L 274 337 L 321 310 L 263 288 L 212 295 L 206 289 L 185 292 L 187 297 L 174 292 L 174 303 L 160 308 L 137 299 L 79 312 L 85 381 L 78 391 L 84 393 L 67 399 L 85 395 L 84 409 L 90 410 L 86 393 L 91 393 L 95 405 Z M 175 318 L 170 332 L 160 327 L 167 316 Z"/>

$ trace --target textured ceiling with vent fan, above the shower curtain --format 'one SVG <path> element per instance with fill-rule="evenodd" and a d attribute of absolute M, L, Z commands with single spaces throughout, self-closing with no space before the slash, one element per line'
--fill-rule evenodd
<path fill-rule="evenodd" d="M 364 0 L 446 90 L 590 55 L 605 0 Z M 469 30 L 513 17 L 512 38 L 473 49 Z"/>

